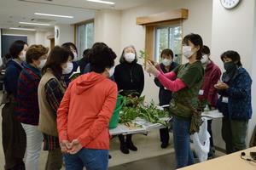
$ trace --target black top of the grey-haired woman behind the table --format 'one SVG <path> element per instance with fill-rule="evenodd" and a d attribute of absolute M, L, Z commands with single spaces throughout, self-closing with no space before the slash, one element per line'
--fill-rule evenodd
<path fill-rule="evenodd" d="M 121 63 L 114 69 L 113 77 L 119 90 L 136 91 L 139 95 L 143 93 L 144 73 L 143 66 L 137 63 Z M 120 93 L 125 95 L 124 93 Z"/>

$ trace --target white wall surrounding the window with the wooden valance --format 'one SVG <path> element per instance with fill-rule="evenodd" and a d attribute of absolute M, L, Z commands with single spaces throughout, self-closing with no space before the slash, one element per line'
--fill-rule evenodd
<path fill-rule="evenodd" d="M 211 0 L 159 0 L 137 8 L 122 11 L 121 20 L 121 49 L 133 44 L 137 51 L 145 48 L 145 28 L 136 25 L 136 18 L 148 14 L 158 14 L 177 8 L 188 8 L 189 19 L 183 21 L 183 36 L 191 32 L 198 33 L 203 41 L 211 47 L 212 35 L 212 1 Z M 203 17 L 202 17 L 203 13 Z M 142 63 L 142 61 L 140 61 Z M 154 99 L 158 103 L 159 88 L 156 88 L 153 77 L 145 73 L 145 88 L 143 94 L 146 99 Z"/>

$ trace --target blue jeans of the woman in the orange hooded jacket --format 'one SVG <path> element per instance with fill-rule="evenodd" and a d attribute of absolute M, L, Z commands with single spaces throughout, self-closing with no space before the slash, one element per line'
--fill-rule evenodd
<path fill-rule="evenodd" d="M 107 170 L 108 150 L 82 149 L 75 155 L 64 156 L 66 170 Z"/>

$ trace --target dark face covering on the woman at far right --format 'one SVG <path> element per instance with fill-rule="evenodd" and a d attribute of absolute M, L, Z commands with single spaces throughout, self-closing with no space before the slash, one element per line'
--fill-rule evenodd
<path fill-rule="evenodd" d="M 226 70 L 223 74 L 223 81 L 224 82 L 230 82 L 231 79 L 233 79 L 236 76 L 237 71 L 237 65 L 233 62 L 225 62 L 224 63 L 224 69 Z"/>

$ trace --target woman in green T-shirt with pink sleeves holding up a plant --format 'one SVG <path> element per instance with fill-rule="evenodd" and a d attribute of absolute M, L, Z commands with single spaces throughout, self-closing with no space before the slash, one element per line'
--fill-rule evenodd
<path fill-rule="evenodd" d="M 190 149 L 189 136 L 198 132 L 201 113 L 198 111 L 198 93 L 204 77 L 201 64 L 203 42 L 198 34 L 189 34 L 183 38 L 183 55 L 189 59 L 174 71 L 163 73 L 157 70 L 151 61 L 147 62 L 147 71 L 157 77 L 161 84 L 172 91 L 169 111 L 173 119 L 173 142 L 177 168 L 194 164 Z"/>

